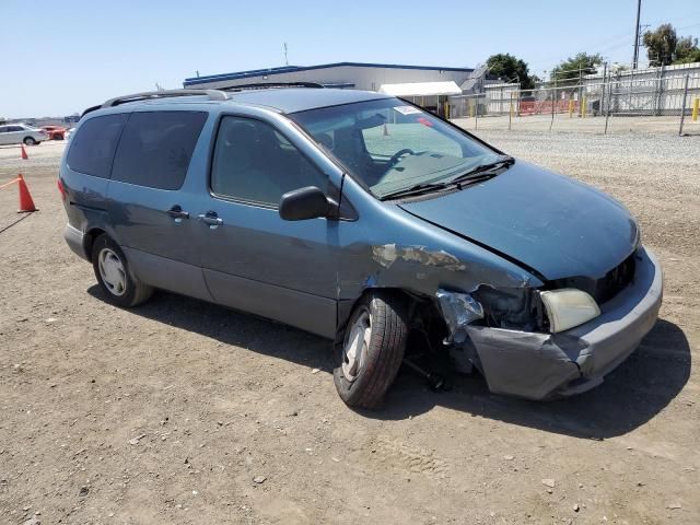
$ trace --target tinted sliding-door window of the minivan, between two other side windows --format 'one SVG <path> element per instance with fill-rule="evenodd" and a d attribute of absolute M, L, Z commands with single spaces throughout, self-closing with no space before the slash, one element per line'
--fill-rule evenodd
<path fill-rule="evenodd" d="M 207 115 L 132 113 L 117 148 L 112 178 L 150 188 L 178 189 Z"/>

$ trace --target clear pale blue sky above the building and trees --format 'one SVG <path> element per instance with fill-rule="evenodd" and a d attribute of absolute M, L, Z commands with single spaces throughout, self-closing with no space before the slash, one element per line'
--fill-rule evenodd
<path fill-rule="evenodd" d="M 637 0 L 0 0 L 0 117 L 62 116 L 185 78 L 337 61 L 542 74 L 579 51 L 631 62 Z M 700 0 L 642 0 L 642 24 L 700 36 Z M 645 50 L 642 49 L 645 58 Z"/>

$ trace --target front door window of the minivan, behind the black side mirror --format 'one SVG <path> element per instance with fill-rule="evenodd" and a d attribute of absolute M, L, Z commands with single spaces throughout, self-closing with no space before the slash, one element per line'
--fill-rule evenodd
<path fill-rule="evenodd" d="M 270 125 L 243 117 L 221 120 L 211 168 L 211 190 L 220 196 L 278 206 L 282 195 L 327 179 Z"/>

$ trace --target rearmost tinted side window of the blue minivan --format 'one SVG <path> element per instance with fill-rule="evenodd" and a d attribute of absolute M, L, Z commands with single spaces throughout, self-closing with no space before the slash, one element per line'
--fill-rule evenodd
<path fill-rule="evenodd" d="M 68 167 L 74 172 L 108 178 L 114 150 L 127 120 L 126 114 L 105 115 L 85 121 L 71 141 Z"/>

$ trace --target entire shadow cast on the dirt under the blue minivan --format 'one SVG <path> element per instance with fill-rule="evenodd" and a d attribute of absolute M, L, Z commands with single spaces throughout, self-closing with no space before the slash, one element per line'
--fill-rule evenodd
<path fill-rule="evenodd" d="M 96 284 L 88 292 L 104 301 Z M 332 373 L 330 341 L 264 318 L 167 292 L 158 292 L 152 301 L 130 312 L 225 345 Z M 688 382 L 690 368 L 686 335 L 677 325 L 661 319 L 603 385 L 579 396 L 538 402 L 493 395 L 477 373 L 455 375 L 448 390 L 435 393 L 424 380 L 402 368 L 384 407 L 358 413 L 401 420 L 440 406 L 472 417 L 604 440 L 630 432 L 663 410 Z"/>

